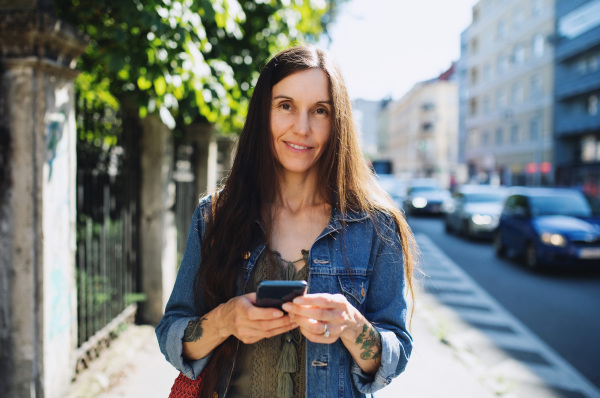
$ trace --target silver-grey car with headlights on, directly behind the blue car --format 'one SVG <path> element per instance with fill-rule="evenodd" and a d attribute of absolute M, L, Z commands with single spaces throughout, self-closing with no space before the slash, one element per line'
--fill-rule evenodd
<path fill-rule="evenodd" d="M 463 185 L 444 204 L 446 232 L 457 232 L 468 238 L 491 238 L 498 219 L 506 188 L 491 185 Z"/>

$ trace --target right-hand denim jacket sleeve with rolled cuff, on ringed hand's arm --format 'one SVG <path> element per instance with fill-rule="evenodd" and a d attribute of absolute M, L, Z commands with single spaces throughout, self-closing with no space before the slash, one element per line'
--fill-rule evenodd
<path fill-rule="evenodd" d="M 391 383 L 406 368 L 412 351 L 412 337 L 406 328 L 404 260 L 396 224 L 386 217 L 375 230 L 379 247 L 364 315 L 381 336 L 381 366 L 375 375 L 368 375 L 355 362 L 352 364 L 352 378 L 364 394 L 372 394 Z"/>

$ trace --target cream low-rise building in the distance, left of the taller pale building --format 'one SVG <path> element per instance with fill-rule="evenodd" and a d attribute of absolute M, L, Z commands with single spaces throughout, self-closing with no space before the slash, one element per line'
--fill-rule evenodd
<path fill-rule="evenodd" d="M 387 126 L 387 143 L 380 155 L 392 161 L 397 176 L 433 177 L 443 186 L 450 185 L 458 167 L 458 85 L 454 76 L 453 65 L 383 108 L 380 120 Z"/>

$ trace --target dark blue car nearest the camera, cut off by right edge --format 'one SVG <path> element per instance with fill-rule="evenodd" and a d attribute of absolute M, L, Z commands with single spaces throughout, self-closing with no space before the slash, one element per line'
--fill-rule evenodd
<path fill-rule="evenodd" d="M 600 218 L 581 192 L 561 188 L 515 189 L 494 232 L 494 251 L 543 265 L 600 266 Z"/>

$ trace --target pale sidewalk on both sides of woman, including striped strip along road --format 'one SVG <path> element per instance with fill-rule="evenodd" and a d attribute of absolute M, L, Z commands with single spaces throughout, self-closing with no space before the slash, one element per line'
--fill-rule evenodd
<path fill-rule="evenodd" d="M 406 371 L 379 398 L 600 398 L 600 392 L 507 313 L 425 236 L 423 292 Z M 129 328 L 67 398 L 166 398 L 175 371 L 150 326 Z"/>

